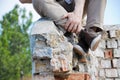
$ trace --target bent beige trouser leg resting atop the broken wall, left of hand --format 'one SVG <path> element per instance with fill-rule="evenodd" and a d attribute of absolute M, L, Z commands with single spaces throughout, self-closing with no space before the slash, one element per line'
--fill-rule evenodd
<path fill-rule="evenodd" d="M 39 15 L 59 20 L 67 11 L 55 0 L 33 0 L 33 6 Z"/>

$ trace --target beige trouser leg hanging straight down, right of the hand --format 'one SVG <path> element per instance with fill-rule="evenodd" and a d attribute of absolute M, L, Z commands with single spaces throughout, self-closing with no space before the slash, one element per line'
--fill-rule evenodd
<path fill-rule="evenodd" d="M 86 28 L 97 27 L 103 30 L 106 0 L 89 0 Z"/>

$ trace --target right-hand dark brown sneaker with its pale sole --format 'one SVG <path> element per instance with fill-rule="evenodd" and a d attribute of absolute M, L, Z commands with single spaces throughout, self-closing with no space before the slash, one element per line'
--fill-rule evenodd
<path fill-rule="evenodd" d="M 95 51 L 102 38 L 102 35 L 99 32 L 96 33 L 92 29 L 89 29 L 89 30 L 81 30 L 79 37 L 81 37 L 82 40 L 84 40 L 84 42 L 87 43 L 87 45 L 92 51 Z"/>

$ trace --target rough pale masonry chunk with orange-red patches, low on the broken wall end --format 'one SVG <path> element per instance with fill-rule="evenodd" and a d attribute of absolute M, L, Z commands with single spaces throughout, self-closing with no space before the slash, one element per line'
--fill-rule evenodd
<path fill-rule="evenodd" d="M 54 55 L 50 64 L 56 74 L 59 72 L 68 72 L 72 70 L 69 60 L 63 54 Z"/>

